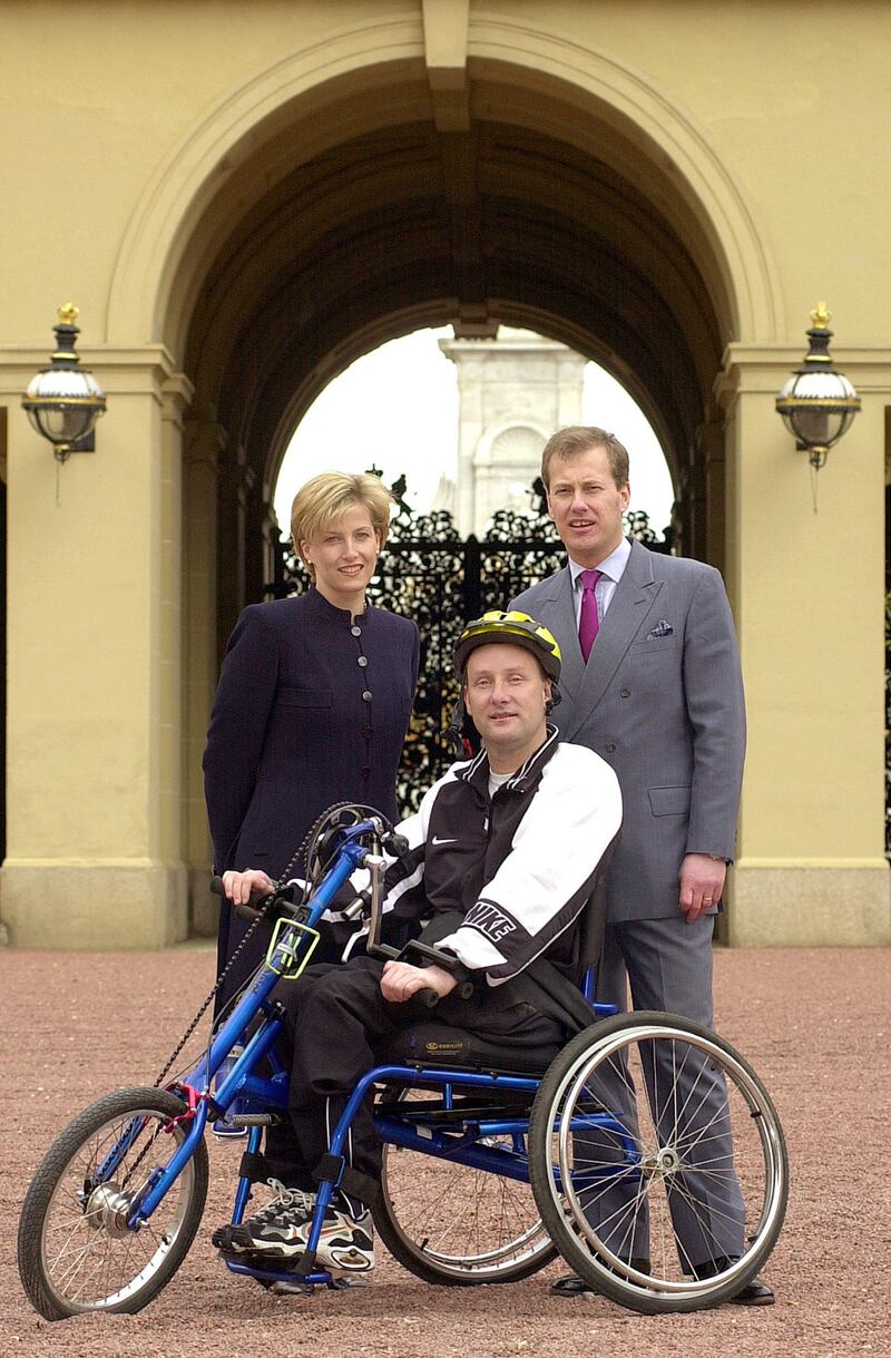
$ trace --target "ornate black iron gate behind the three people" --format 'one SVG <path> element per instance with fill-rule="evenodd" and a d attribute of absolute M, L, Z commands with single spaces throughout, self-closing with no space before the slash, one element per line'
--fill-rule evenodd
<path fill-rule="evenodd" d="M 418 687 L 398 788 L 399 805 L 407 811 L 455 759 L 446 729 L 458 697 L 452 650 L 465 622 L 486 608 L 505 607 L 523 589 L 553 574 L 564 565 L 565 553 L 545 512 L 541 482 L 535 486 L 538 511 L 501 511 L 481 539 L 462 538 L 446 511 L 413 513 L 403 500 L 403 481 L 391 489 L 398 512 L 368 600 L 413 618 L 421 631 Z M 656 538 L 645 513 L 632 512 L 626 521 L 629 534 L 652 550 L 670 550 L 670 542 Z M 308 585 L 303 562 L 291 542 L 283 540 L 266 595 L 302 593 Z"/>

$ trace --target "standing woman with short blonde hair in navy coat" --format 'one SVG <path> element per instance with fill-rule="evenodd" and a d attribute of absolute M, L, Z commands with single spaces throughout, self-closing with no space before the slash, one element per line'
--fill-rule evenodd
<path fill-rule="evenodd" d="M 295 497 L 291 530 L 312 585 L 244 608 L 213 703 L 204 788 L 217 873 L 261 866 L 277 879 L 334 801 L 365 803 L 397 819 L 418 630 L 365 602 L 391 502 L 378 477 L 344 471 L 314 477 Z M 223 902 L 220 968 L 244 929 Z M 220 1004 L 244 983 L 265 945 L 251 938 Z"/>

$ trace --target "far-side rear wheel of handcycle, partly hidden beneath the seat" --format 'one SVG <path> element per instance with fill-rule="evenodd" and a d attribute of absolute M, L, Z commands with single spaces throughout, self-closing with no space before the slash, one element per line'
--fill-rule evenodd
<path fill-rule="evenodd" d="M 374 1218 L 394 1259 L 440 1286 L 519 1282 L 557 1255 L 528 1184 L 398 1146 L 383 1148 Z"/>

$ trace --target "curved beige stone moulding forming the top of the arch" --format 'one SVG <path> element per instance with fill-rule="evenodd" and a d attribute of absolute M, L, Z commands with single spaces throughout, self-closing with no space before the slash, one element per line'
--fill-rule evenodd
<path fill-rule="evenodd" d="M 784 333 L 776 270 L 740 186 L 702 129 L 641 72 L 508 18 L 474 19 L 463 31 L 456 23 L 444 37 L 446 56 L 436 22 L 421 33 L 407 18 L 344 29 L 219 100 L 140 197 L 111 280 L 107 341 L 163 340 L 179 352 L 190 306 L 183 278 L 194 282 L 212 265 L 220 230 L 231 230 L 234 210 L 250 204 L 242 186 L 266 168 L 278 178 L 295 163 L 295 128 L 304 162 L 413 115 L 441 136 L 460 134 L 489 92 L 490 107 L 509 110 L 512 125 L 557 126 L 570 144 L 606 152 L 607 163 L 611 148 L 613 159 L 648 168 L 641 182 L 661 181 L 661 206 L 695 236 L 691 254 L 723 326 L 751 342 Z"/>

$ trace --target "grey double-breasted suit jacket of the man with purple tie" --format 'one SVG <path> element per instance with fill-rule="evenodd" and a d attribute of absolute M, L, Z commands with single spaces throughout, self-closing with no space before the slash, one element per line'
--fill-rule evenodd
<path fill-rule="evenodd" d="M 638 542 L 585 665 L 569 566 L 513 600 L 562 652 L 562 740 L 588 746 L 622 788 L 608 921 L 678 914 L 687 853 L 731 860 L 746 750 L 733 619 L 717 570 Z"/>

